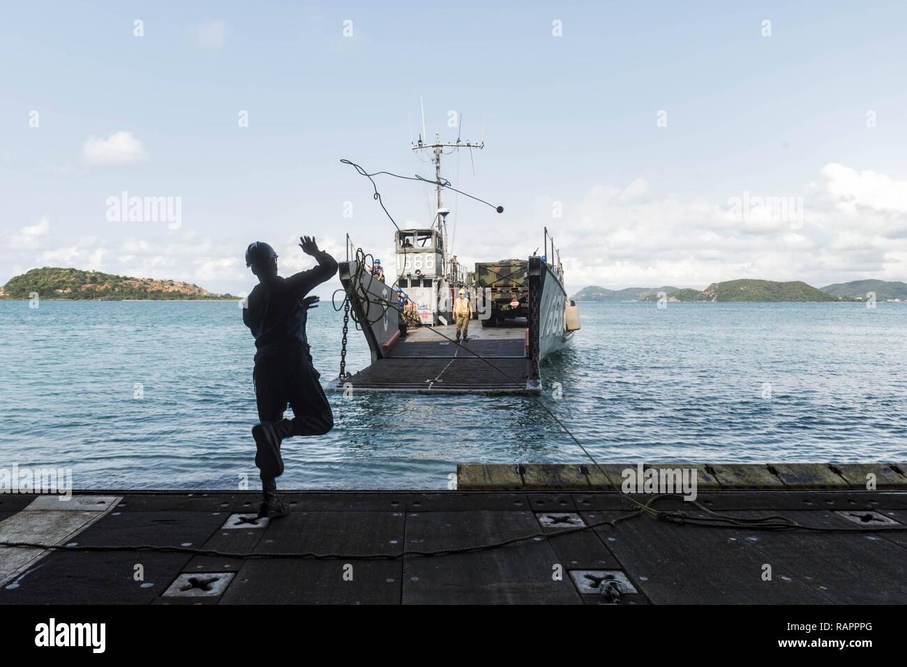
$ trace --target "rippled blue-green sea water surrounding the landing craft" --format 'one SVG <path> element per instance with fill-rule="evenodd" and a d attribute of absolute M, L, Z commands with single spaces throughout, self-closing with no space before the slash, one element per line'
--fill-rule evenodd
<path fill-rule="evenodd" d="M 907 304 L 580 303 L 541 400 L 600 461 L 907 461 Z M 322 380 L 342 313 L 310 312 Z M 258 487 L 234 302 L 0 301 L 0 468 L 76 488 Z M 350 331 L 347 368 L 366 365 Z M 558 383 L 560 389 L 554 385 Z M 282 488 L 445 488 L 457 463 L 584 456 L 531 397 L 328 394 Z"/>

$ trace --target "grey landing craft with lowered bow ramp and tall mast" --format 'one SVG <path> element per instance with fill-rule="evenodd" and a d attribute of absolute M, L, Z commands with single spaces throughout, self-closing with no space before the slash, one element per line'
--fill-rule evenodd
<path fill-rule="evenodd" d="M 450 209 L 441 192 L 453 189 L 441 176 L 441 156 L 461 149 L 481 150 L 484 142 L 426 143 L 420 137 L 412 149 L 431 152 L 434 181 L 398 176 L 390 172 L 368 173 L 356 168 L 375 188 L 375 200 L 396 227 L 395 280 L 391 265 L 376 269 L 377 260 L 353 249 L 347 235 L 347 257 L 340 265 L 340 280 L 346 291 L 344 344 L 340 374 L 329 388 L 337 391 L 415 391 L 423 393 L 539 393 L 540 362 L 570 345 L 580 329 L 576 304 L 563 287 L 563 265 L 554 240 L 543 231 L 544 252 L 526 259 L 477 262 L 470 271 L 453 255 L 447 234 Z M 401 229 L 382 201 L 374 176 L 432 183 L 435 209 L 431 224 Z M 466 197 L 495 206 L 463 191 Z M 532 246 L 529 246 L 531 248 Z M 378 272 L 384 280 L 377 280 Z M 398 290 L 414 306 L 412 319 L 422 326 L 409 332 L 401 324 Z M 417 315 L 416 315 L 417 313 Z M 356 374 L 346 371 L 346 334 L 349 318 L 366 336 L 372 363 Z M 470 321 L 482 327 L 470 331 Z"/>

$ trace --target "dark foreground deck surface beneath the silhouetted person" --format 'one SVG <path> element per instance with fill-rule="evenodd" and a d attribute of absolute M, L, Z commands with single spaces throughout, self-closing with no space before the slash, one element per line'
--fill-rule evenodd
<path fill-rule="evenodd" d="M 581 593 L 580 584 L 609 574 L 637 591 L 621 604 L 907 603 L 904 533 L 702 528 L 648 516 L 593 526 L 628 514 L 616 493 L 287 493 L 290 515 L 270 521 L 254 519 L 251 492 L 116 495 L 119 504 L 69 542 L 119 549 L 47 554 L 0 588 L 0 603 L 596 604 L 605 596 Z M 857 527 L 841 510 L 907 523 L 907 493 L 717 491 L 698 501 L 739 517 L 830 528 Z M 659 508 L 702 514 L 682 500 Z M 245 517 L 240 527 L 224 527 L 233 515 Z M 551 536 L 577 521 L 587 527 Z M 473 553 L 393 557 L 523 537 Z M 129 549 L 138 544 L 187 551 Z"/>

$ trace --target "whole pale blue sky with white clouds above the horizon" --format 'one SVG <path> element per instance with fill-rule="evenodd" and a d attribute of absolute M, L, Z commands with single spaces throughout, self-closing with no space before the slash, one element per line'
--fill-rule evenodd
<path fill-rule="evenodd" d="M 907 280 L 905 24 L 902 2 L 9 3 L 0 284 L 239 294 L 250 241 L 288 273 L 303 234 L 387 264 L 393 225 L 340 160 L 431 175 L 421 103 L 430 137 L 485 142 L 444 178 L 504 207 L 444 195 L 461 262 L 527 257 L 547 226 L 571 292 Z M 428 226 L 429 186 L 377 184 Z"/>

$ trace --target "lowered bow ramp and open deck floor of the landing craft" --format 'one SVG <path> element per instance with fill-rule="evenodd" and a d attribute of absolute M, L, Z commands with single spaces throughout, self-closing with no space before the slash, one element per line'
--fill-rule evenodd
<path fill-rule="evenodd" d="M 351 384 L 353 391 L 527 391 L 525 328 L 483 329 L 473 321 L 462 347 L 453 342 L 455 336 L 456 330 L 450 325 L 414 329 L 397 340 L 385 358 L 343 384 Z"/>

